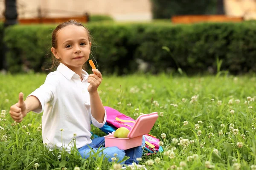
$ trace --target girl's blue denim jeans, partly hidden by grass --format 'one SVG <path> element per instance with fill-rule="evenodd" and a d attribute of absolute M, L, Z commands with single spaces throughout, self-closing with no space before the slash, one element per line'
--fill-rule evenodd
<path fill-rule="evenodd" d="M 118 149 L 117 147 L 105 147 L 104 137 L 98 137 L 98 138 L 92 139 L 92 143 L 78 149 L 80 155 L 84 159 L 89 158 L 90 153 L 92 151 L 88 146 L 90 146 L 94 152 L 97 152 L 97 150 L 101 150 L 98 156 L 102 156 L 102 153 L 103 153 L 103 155 L 105 155 L 105 158 L 107 158 L 108 161 L 112 161 L 111 158 L 113 158 L 114 154 L 116 153 L 117 154 L 116 158 L 119 161 L 124 159 L 125 155 L 130 157 L 126 161 L 121 162 L 121 164 L 132 164 L 133 162 L 135 162 L 136 164 L 139 164 L 139 161 L 137 161 L 136 159 L 142 157 L 143 146 L 145 146 L 145 137 L 143 136 L 141 146 L 133 147 L 128 150 L 121 150 L 121 149 Z"/>

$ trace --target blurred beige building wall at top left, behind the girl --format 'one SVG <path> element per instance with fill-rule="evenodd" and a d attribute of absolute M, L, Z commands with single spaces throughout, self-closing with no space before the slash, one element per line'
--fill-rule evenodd
<path fill-rule="evenodd" d="M 0 0 L 3 18 L 4 0 Z M 19 18 L 109 15 L 117 21 L 151 20 L 150 0 L 17 0 Z"/>

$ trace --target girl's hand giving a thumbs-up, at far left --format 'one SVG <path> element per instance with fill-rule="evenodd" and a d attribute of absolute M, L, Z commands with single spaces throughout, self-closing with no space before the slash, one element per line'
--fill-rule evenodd
<path fill-rule="evenodd" d="M 20 92 L 19 101 L 11 106 L 9 113 L 15 122 L 21 122 L 23 117 L 26 116 L 26 104 L 23 101 L 23 93 Z"/>

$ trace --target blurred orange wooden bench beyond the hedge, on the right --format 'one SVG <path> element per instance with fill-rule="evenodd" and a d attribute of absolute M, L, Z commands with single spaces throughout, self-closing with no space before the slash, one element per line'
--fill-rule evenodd
<path fill-rule="evenodd" d="M 200 22 L 241 22 L 243 17 L 226 15 L 177 15 L 172 17 L 172 23 L 200 23 Z"/>

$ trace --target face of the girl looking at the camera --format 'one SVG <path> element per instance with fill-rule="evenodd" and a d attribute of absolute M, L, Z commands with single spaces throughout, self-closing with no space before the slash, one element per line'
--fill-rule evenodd
<path fill-rule="evenodd" d="M 85 28 L 66 26 L 57 32 L 56 39 L 57 48 L 51 49 L 55 58 L 61 59 L 61 62 L 73 71 L 81 70 L 89 59 L 91 47 Z"/>

